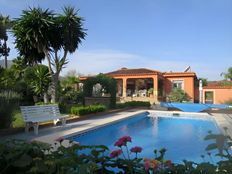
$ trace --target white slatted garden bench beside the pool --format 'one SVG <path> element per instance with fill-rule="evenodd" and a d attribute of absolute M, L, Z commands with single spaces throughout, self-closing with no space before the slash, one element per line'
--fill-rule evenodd
<path fill-rule="evenodd" d="M 20 106 L 22 116 L 25 122 L 25 132 L 29 131 L 30 127 L 34 128 L 34 133 L 38 135 L 39 123 L 53 120 L 54 125 L 58 121 L 66 124 L 68 116 L 62 116 L 58 105 L 36 105 L 36 106 Z"/>

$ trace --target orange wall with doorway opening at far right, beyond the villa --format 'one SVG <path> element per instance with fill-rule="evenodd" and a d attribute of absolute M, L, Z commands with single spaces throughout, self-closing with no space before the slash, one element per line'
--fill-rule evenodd
<path fill-rule="evenodd" d="M 232 100 L 232 89 L 203 89 L 203 103 L 205 102 L 205 91 L 213 91 L 214 104 L 224 104 Z"/>

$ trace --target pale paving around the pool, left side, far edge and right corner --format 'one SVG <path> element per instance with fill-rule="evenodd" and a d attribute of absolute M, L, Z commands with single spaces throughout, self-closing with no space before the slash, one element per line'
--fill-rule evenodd
<path fill-rule="evenodd" d="M 111 113 L 103 116 L 96 116 L 91 119 L 86 119 L 83 121 L 77 121 L 74 123 L 66 124 L 66 126 L 54 126 L 49 128 L 39 129 L 39 135 L 34 135 L 34 132 L 29 133 L 18 133 L 8 137 L 0 138 L 0 140 L 5 139 L 23 139 L 26 141 L 41 141 L 49 144 L 53 144 L 57 138 L 69 137 L 77 133 L 86 132 L 87 130 L 96 129 L 103 125 L 110 124 L 115 121 L 120 121 L 122 119 L 133 117 L 136 114 L 141 114 L 149 110 L 132 109 L 127 111 L 122 111 L 118 113 Z M 154 111 L 154 110 L 152 110 Z M 173 111 L 158 111 L 164 113 L 173 113 Z M 176 112 L 175 113 L 182 113 Z M 185 113 L 186 114 L 186 113 Z M 191 115 L 211 115 L 215 118 L 218 126 L 221 128 L 223 133 L 229 134 L 232 137 L 232 111 L 218 112 L 218 111 L 208 111 L 207 113 L 189 113 Z M 226 131 L 224 127 L 227 127 Z"/>

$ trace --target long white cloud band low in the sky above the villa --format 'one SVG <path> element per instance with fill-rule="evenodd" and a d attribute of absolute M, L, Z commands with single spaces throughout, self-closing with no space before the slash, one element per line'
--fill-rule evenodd
<path fill-rule="evenodd" d="M 188 66 L 191 66 L 192 71 L 196 72 L 198 77 L 205 77 L 209 80 L 221 79 L 220 73 L 223 70 L 222 67 L 210 67 L 208 62 L 199 63 L 187 58 L 186 61 L 183 61 L 145 57 L 116 50 L 77 51 L 69 57 L 67 68 L 64 69 L 62 74 L 68 70 L 76 70 L 85 75 L 98 74 L 100 72 L 114 71 L 122 67 L 149 68 L 161 72 L 181 72 Z"/>

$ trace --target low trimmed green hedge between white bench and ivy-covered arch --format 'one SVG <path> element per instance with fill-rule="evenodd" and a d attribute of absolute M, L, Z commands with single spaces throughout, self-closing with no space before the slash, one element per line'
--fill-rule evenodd
<path fill-rule="evenodd" d="M 71 114 L 86 115 L 91 113 L 103 112 L 105 110 L 106 110 L 106 106 L 104 105 L 80 106 L 80 107 L 72 107 Z"/>

